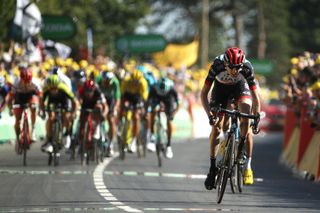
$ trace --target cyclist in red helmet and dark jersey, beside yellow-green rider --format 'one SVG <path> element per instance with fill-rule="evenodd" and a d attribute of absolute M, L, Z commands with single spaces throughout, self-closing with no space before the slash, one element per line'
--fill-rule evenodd
<path fill-rule="evenodd" d="M 93 137 L 98 139 L 100 135 L 100 122 L 107 114 L 108 106 L 99 86 L 93 80 L 86 80 L 83 86 L 79 88 L 79 101 L 81 104 L 79 139 L 81 140 L 84 137 L 84 125 L 88 117 L 86 109 L 94 110 L 92 120 L 95 133 Z M 88 148 L 90 149 L 91 147 Z"/>

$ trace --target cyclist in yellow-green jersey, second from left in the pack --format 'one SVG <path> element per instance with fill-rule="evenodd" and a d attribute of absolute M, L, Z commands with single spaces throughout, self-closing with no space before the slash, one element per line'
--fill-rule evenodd
<path fill-rule="evenodd" d="M 58 105 L 64 109 L 62 113 L 64 127 L 66 129 L 65 133 L 65 148 L 68 149 L 71 143 L 72 134 L 72 115 L 76 113 L 76 99 L 74 94 L 70 91 L 67 85 L 65 85 L 59 78 L 58 75 L 53 74 L 49 76 L 43 87 L 43 95 L 40 101 L 41 114 L 44 115 L 45 112 L 45 101 L 48 99 L 47 109 L 48 109 L 48 120 L 46 123 L 47 131 L 47 141 L 41 147 L 44 152 L 52 152 L 52 122 L 55 119 L 54 108 Z"/>

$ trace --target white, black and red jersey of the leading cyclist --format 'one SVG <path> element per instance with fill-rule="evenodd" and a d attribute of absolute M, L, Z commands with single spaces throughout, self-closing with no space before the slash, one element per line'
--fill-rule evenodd
<path fill-rule="evenodd" d="M 218 81 L 226 85 L 235 85 L 240 81 L 246 80 L 250 90 L 255 90 L 257 87 L 254 71 L 251 63 L 248 60 L 243 61 L 243 65 L 239 69 L 239 74 L 237 76 L 231 76 L 228 74 L 226 67 L 224 65 L 223 54 L 217 56 L 207 75 L 205 84 L 211 86 L 214 81 Z"/>

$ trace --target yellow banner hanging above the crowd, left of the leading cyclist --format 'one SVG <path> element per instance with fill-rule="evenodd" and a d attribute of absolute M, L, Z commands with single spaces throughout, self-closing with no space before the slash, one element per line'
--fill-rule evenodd
<path fill-rule="evenodd" d="M 172 65 L 175 69 L 190 67 L 198 60 L 199 40 L 189 44 L 168 44 L 164 51 L 153 54 L 159 67 Z"/>

